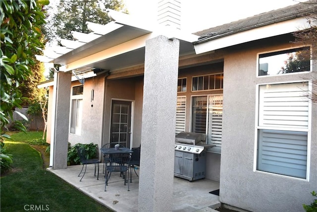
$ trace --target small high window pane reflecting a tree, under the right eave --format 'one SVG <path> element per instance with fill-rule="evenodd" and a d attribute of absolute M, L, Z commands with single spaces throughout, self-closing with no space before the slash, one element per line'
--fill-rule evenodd
<path fill-rule="evenodd" d="M 310 47 L 259 55 L 259 76 L 310 71 Z"/>

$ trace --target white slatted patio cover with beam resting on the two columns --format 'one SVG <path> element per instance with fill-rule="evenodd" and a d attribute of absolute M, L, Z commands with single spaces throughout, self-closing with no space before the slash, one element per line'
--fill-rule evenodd
<path fill-rule="evenodd" d="M 38 56 L 38 58 L 42 62 L 64 65 L 59 71 L 72 71 L 81 67 L 119 70 L 144 64 L 146 41 L 159 35 L 168 39 L 179 39 L 180 55 L 195 54 L 193 42 L 198 40 L 197 35 L 169 27 L 148 25 L 131 15 L 111 9 L 107 9 L 107 12 L 112 21 L 106 25 L 99 25 L 99 28 L 104 28 L 102 32 L 99 32 L 98 27 L 92 26 L 95 39 L 83 43 L 83 40 L 89 39 L 92 35 L 72 32 L 79 40 L 63 42 L 73 49 L 50 48 L 50 52 L 47 51 L 48 54 L 45 54 L 46 57 Z M 52 54 L 51 59 L 49 53 Z"/>

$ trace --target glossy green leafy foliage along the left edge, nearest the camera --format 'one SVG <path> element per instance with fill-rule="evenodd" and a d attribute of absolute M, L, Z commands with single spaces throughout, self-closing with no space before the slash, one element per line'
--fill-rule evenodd
<path fill-rule="evenodd" d="M 41 25 L 45 23 L 42 9 L 49 3 L 49 0 L 0 0 L 1 141 L 8 137 L 2 133 L 2 128 L 12 120 L 14 108 L 21 108 L 24 97 L 20 85 L 32 73 L 34 53 L 44 47 L 41 42 Z M 22 124 L 19 129 L 25 131 Z"/>

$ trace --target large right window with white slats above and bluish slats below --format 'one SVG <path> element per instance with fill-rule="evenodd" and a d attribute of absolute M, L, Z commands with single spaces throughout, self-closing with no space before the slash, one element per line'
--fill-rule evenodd
<path fill-rule="evenodd" d="M 306 179 L 308 82 L 259 86 L 257 170 Z"/>

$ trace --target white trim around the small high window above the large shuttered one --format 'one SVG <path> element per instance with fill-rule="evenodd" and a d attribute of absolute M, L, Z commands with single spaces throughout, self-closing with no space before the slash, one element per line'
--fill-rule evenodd
<path fill-rule="evenodd" d="M 276 76 L 284 76 L 284 75 L 292 75 L 292 74 L 304 74 L 304 73 L 310 73 L 312 72 L 313 70 L 313 61 L 312 59 L 310 60 L 310 70 L 311 71 L 302 71 L 302 72 L 294 72 L 294 73 L 283 73 L 283 74 L 280 74 L 280 75 L 263 75 L 263 76 L 259 76 L 259 57 L 260 55 L 263 55 L 263 54 L 267 54 L 267 53 L 274 53 L 274 52 L 279 52 L 279 51 L 285 51 L 285 50 L 291 50 L 291 49 L 297 49 L 297 48 L 303 48 L 303 47 L 310 47 L 311 49 L 311 55 L 312 55 L 312 45 L 300 45 L 300 46 L 292 46 L 290 48 L 283 48 L 283 49 L 275 49 L 273 51 L 265 51 L 265 52 L 260 52 L 257 54 L 257 71 L 256 71 L 256 77 L 257 78 L 263 78 L 263 77 L 276 77 Z M 273 83 L 271 83 L 273 84 Z M 279 83 L 278 83 L 279 84 Z"/>

